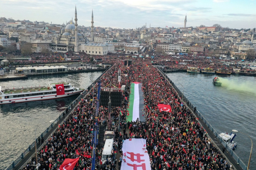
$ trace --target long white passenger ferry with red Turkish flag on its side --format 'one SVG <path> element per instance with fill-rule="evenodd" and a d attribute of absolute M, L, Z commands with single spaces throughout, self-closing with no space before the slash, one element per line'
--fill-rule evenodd
<path fill-rule="evenodd" d="M 7 88 L 0 86 L 0 104 L 30 102 L 68 97 L 83 92 L 69 83 L 53 83 L 47 86 Z"/>

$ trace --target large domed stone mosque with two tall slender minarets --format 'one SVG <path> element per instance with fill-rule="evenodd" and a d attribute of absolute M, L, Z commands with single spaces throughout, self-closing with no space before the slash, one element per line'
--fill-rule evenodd
<path fill-rule="evenodd" d="M 77 29 L 77 12 L 75 7 L 75 23 L 73 20 L 65 29 L 61 29 L 60 34 L 53 36 L 53 43 L 50 45 L 53 52 L 85 52 L 92 55 L 105 55 L 109 52 L 114 53 L 115 46 L 108 43 L 94 43 L 94 26 L 93 26 L 93 11 L 91 21 L 91 42 L 88 41 Z"/>

